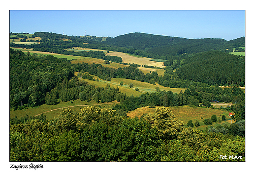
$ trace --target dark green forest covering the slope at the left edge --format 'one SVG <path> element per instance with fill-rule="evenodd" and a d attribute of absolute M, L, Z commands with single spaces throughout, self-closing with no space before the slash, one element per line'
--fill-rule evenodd
<path fill-rule="evenodd" d="M 10 49 L 10 109 L 57 104 L 78 98 L 110 102 L 126 97 L 118 88 L 95 87 L 79 80 L 74 76 L 74 69 L 66 59 Z"/>

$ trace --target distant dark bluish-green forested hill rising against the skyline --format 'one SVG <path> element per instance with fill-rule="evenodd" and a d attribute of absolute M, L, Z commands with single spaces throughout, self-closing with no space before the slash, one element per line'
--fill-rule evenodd
<path fill-rule="evenodd" d="M 184 53 L 196 53 L 208 50 L 233 49 L 245 46 L 245 37 L 226 41 L 218 38 L 186 39 L 179 37 L 152 35 L 146 33 L 129 33 L 107 39 L 105 44 L 139 49 L 151 54 L 152 58 L 168 60 L 170 56 Z"/>

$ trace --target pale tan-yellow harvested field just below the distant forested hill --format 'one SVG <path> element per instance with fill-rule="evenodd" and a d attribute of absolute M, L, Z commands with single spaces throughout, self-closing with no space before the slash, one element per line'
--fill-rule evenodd
<path fill-rule="evenodd" d="M 106 55 L 113 55 L 113 56 L 121 57 L 124 63 L 131 63 L 131 64 L 134 63 L 134 64 L 138 64 L 138 65 L 156 66 L 156 67 L 160 67 L 160 68 L 165 67 L 165 66 L 163 66 L 163 62 L 153 62 L 153 61 L 150 61 L 151 58 L 134 57 L 134 56 L 128 55 L 123 52 L 109 52 Z"/>

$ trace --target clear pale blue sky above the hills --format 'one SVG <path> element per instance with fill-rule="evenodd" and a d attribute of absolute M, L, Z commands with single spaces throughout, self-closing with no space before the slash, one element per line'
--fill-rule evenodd
<path fill-rule="evenodd" d="M 133 32 L 183 38 L 245 36 L 245 10 L 10 10 L 9 31 L 116 37 Z"/>

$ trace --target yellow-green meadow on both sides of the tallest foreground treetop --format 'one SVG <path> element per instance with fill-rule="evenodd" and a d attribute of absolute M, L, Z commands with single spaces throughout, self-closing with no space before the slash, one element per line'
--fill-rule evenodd
<path fill-rule="evenodd" d="M 218 125 L 223 125 L 223 124 L 230 124 L 231 123 L 231 118 L 228 116 L 230 112 L 226 112 L 223 110 L 219 109 L 211 109 L 211 108 L 205 108 L 205 107 L 189 107 L 189 106 L 175 106 L 175 107 L 168 107 L 169 109 L 172 110 L 173 114 L 175 117 L 181 121 L 183 121 L 184 125 L 187 127 L 187 123 L 192 120 L 192 123 L 195 123 L 197 120 L 200 123 L 200 126 L 195 127 L 196 129 L 199 130 L 204 130 L 208 125 L 205 125 L 203 121 L 205 119 L 211 118 L 212 115 L 216 115 L 217 118 L 222 118 L 222 115 L 225 115 L 226 121 L 222 123 L 213 123 L 212 126 L 216 127 Z M 140 117 L 146 113 L 155 113 L 156 109 L 155 108 L 149 108 L 148 106 L 146 107 L 141 107 L 137 108 L 133 111 L 129 111 L 127 116 L 130 118 L 135 118 Z M 234 123 L 234 121 L 232 120 Z"/>

